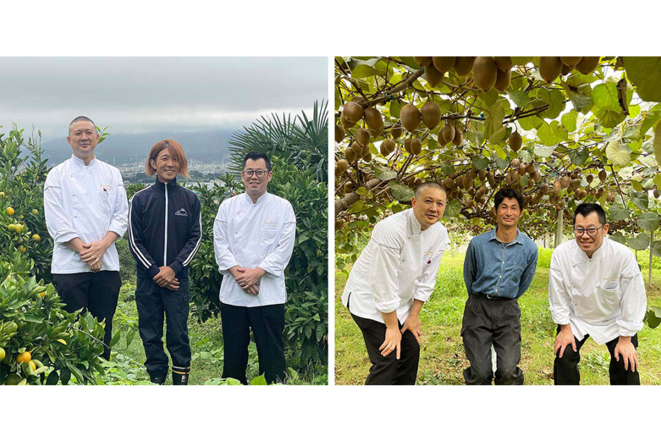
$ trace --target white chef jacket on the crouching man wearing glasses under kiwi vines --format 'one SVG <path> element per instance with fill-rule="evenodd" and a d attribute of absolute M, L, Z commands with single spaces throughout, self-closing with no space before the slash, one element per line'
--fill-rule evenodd
<path fill-rule="evenodd" d="M 576 240 L 551 256 L 549 306 L 558 325 L 571 325 L 578 340 L 589 334 L 602 345 L 635 335 L 647 309 L 645 284 L 631 249 L 604 238 L 588 258 Z"/>

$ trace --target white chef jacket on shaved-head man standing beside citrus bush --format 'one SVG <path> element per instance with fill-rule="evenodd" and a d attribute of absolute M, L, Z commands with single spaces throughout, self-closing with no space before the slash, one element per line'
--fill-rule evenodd
<path fill-rule="evenodd" d="M 53 238 L 52 274 L 90 272 L 90 266 L 66 245 L 72 238 L 98 242 L 108 232 L 123 236 L 129 205 L 119 170 L 94 158 L 85 165 L 74 155 L 54 167 L 43 187 L 43 209 Z M 113 243 L 101 258 L 102 271 L 119 271 Z"/>

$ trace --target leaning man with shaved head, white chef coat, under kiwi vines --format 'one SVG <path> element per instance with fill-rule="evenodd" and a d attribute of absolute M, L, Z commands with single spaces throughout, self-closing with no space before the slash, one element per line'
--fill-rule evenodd
<path fill-rule="evenodd" d="M 365 384 L 415 384 L 419 312 L 429 300 L 448 230 L 439 223 L 446 194 L 422 183 L 412 207 L 379 221 L 351 268 L 342 304 L 360 328 L 372 362 Z"/>

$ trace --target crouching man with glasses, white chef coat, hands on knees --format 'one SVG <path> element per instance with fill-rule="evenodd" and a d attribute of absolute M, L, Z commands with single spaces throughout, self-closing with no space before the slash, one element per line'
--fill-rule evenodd
<path fill-rule="evenodd" d="M 551 256 L 549 305 L 558 324 L 555 384 L 579 384 L 580 348 L 591 336 L 611 354 L 611 384 L 640 384 L 638 331 L 647 299 L 631 249 L 606 237 L 602 207 L 583 203 L 574 212 L 574 235 Z"/>

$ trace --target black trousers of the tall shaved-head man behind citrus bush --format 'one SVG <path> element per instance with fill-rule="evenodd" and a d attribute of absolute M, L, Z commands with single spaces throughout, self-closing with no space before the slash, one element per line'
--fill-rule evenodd
<path fill-rule="evenodd" d="M 103 358 L 110 360 L 112 316 L 115 315 L 119 289 L 122 287 L 119 271 L 53 274 L 53 285 L 65 303 L 65 311 L 83 308 L 83 313 L 90 311 L 96 320 L 105 320 Z"/>

